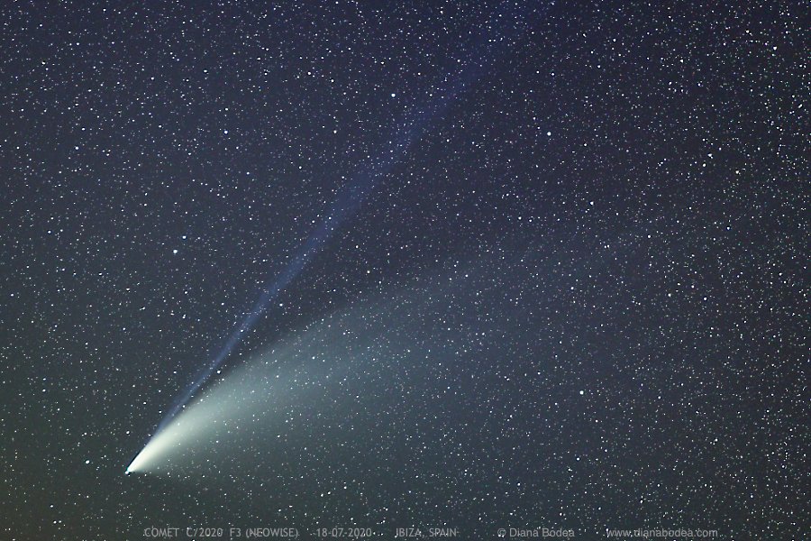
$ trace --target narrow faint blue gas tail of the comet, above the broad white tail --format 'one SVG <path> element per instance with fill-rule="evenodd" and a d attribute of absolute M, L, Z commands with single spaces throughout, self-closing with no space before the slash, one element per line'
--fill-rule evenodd
<path fill-rule="evenodd" d="M 169 421 L 203 387 L 205 381 L 208 381 L 214 371 L 240 344 L 242 337 L 251 331 L 269 304 L 305 269 L 307 263 L 332 238 L 335 230 L 343 222 L 355 215 L 361 203 L 369 196 L 379 179 L 385 176 L 392 166 L 403 159 L 411 145 L 423 135 L 425 128 L 431 124 L 433 119 L 443 115 L 453 99 L 478 80 L 497 58 L 503 55 L 507 45 L 515 38 L 517 33 L 515 28 L 509 28 L 510 23 L 520 26 L 522 23 L 521 15 L 523 14 L 519 13 L 510 17 L 506 16 L 504 11 L 504 9 L 499 9 L 491 15 L 485 26 L 487 30 L 481 32 L 478 39 L 471 45 L 471 54 L 469 60 L 463 64 L 464 68 L 452 77 L 445 78 L 446 84 L 444 87 L 435 90 L 428 99 L 424 100 L 424 103 L 415 107 L 410 114 L 405 115 L 403 122 L 392 133 L 387 147 L 382 149 L 377 158 L 370 158 L 360 164 L 351 180 L 338 193 L 323 222 L 315 228 L 305 243 L 299 247 L 293 259 L 287 263 L 287 267 L 281 271 L 275 280 L 269 283 L 251 311 L 242 319 L 241 324 L 228 338 L 220 353 L 214 357 L 183 394 L 178 396 L 178 399 L 161 420 L 155 434 L 164 426 L 167 426 Z"/>

